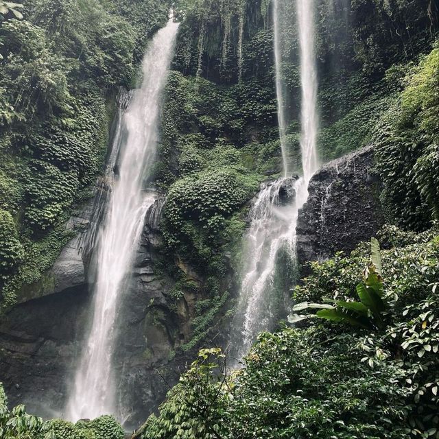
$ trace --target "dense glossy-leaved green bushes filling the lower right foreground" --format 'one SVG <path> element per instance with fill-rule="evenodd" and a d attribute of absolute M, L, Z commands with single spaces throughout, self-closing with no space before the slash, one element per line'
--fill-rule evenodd
<path fill-rule="evenodd" d="M 438 438 L 437 228 L 418 235 L 387 226 L 379 238 L 385 327 L 310 318 L 259 335 L 235 372 L 219 349 L 204 349 L 141 436 Z M 369 261 L 361 245 L 312 263 L 294 299 L 352 301 Z"/>

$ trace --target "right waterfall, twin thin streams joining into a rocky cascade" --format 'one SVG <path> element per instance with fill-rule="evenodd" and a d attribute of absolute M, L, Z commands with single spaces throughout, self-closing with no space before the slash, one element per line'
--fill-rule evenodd
<path fill-rule="evenodd" d="M 289 263 L 296 261 L 296 223 L 298 211 L 308 197 L 308 183 L 318 169 L 316 138 L 318 132 L 317 69 L 314 51 L 314 2 L 297 1 L 298 34 L 300 40 L 300 81 L 302 84 L 300 151 L 301 178 L 288 177 L 285 145 L 285 109 L 281 81 L 281 51 L 279 38 L 278 2 L 274 0 L 274 54 L 276 63 L 276 92 L 278 124 L 283 156 L 283 178 L 265 183 L 250 210 L 250 229 L 244 245 L 245 263 L 241 272 L 241 289 L 237 312 L 230 337 L 231 355 L 240 361 L 248 352 L 255 337 L 269 330 L 275 323 L 276 301 L 274 290 L 276 262 L 281 249 Z M 283 260 L 285 262 L 285 258 Z"/>

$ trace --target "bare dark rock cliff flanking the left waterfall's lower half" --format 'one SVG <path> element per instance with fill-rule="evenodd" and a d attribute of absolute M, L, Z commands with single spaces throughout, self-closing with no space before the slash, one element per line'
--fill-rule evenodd
<path fill-rule="evenodd" d="M 147 212 L 118 311 L 115 376 L 123 401 L 120 415 L 129 427 L 156 409 L 167 382 L 174 384 L 185 368 L 185 354 L 175 355 L 175 349 L 188 340 L 195 315 L 190 295 L 180 297 L 175 309 L 169 307 L 167 295 L 175 282 L 156 269 L 163 204 L 159 196 Z M 96 229 L 90 218 L 102 210 L 99 206 L 92 200 L 71 219 L 69 224 L 81 218 L 81 230 L 47 272 L 50 281 L 28 287 L 28 296 L 0 322 L 0 381 L 12 405 L 25 403 L 40 416 L 62 416 L 88 336 L 94 276 L 93 258 L 85 250 Z"/>

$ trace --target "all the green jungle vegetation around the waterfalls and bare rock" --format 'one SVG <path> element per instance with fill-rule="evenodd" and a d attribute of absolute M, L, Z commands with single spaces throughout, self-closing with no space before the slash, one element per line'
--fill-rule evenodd
<path fill-rule="evenodd" d="M 117 88 L 134 86 L 170 6 L 22 3 L 0 1 L 2 312 L 68 241 L 64 223 L 102 171 Z M 282 73 L 300 173 L 290 4 L 281 14 Z M 311 263 L 294 301 L 331 303 L 348 318 L 315 318 L 304 305 L 300 322 L 260 335 L 239 371 L 219 348 L 202 349 L 137 438 L 439 438 L 438 3 L 316 4 L 320 158 L 375 145 L 388 222 L 378 237 L 382 266 L 369 244 Z M 248 201 L 280 173 L 281 152 L 270 0 L 182 0 L 174 8 L 182 23 L 154 176 L 167 193 L 163 259 L 178 254 L 203 279 L 200 287 L 178 267 L 161 268 L 177 279 L 170 301 L 203 290 L 193 336 L 181 346 L 193 351 L 230 302 L 227 272 L 240 263 Z M 374 283 L 365 268 L 379 270 Z M 374 300 L 359 300 L 357 285 L 376 287 Z M 119 439 L 123 430 L 108 416 L 73 425 L 10 410 L 0 386 L 0 437 Z"/>

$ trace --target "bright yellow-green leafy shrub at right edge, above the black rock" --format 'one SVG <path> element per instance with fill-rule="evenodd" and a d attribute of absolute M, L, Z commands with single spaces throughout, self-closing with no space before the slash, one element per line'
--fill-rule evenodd
<path fill-rule="evenodd" d="M 391 219 L 425 230 L 439 215 L 439 49 L 426 56 L 407 78 L 397 106 L 375 132 L 383 201 Z"/>

